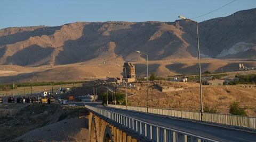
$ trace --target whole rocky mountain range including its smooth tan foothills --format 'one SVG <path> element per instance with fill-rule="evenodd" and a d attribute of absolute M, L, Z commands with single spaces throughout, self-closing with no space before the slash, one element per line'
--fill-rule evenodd
<path fill-rule="evenodd" d="M 202 72 L 256 67 L 256 8 L 198 23 Z M 197 74 L 196 24 L 76 22 L 0 30 L 0 83 L 121 77 L 124 61 L 137 76 Z M 251 71 L 251 70 L 250 70 Z"/>

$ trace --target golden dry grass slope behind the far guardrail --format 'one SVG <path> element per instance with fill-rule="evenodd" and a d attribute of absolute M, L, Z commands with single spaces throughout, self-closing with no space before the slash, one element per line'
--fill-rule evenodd
<path fill-rule="evenodd" d="M 155 81 L 155 84 L 183 88 L 182 91 L 163 93 L 153 83 L 149 84 L 149 106 L 177 110 L 200 110 L 200 95 L 198 83 L 181 83 Z M 146 83 L 136 83 L 137 87 L 128 89 L 128 104 L 133 106 L 146 106 Z M 121 88 L 125 93 L 125 89 Z M 249 116 L 256 116 L 256 86 L 243 87 L 242 85 L 210 86 L 203 85 L 203 104 L 217 109 L 217 113 L 228 114 L 229 104 L 238 101 L 245 108 Z"/>

